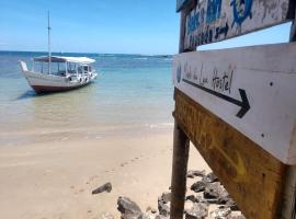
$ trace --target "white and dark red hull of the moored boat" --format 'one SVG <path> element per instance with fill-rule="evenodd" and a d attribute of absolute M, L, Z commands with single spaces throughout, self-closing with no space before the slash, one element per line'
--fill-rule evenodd
<path fill-rule="evenodd" d="M 24 71 L 24 76 L 36 93 L 62 92 L 79 89 L 91 83 L 96 78 L 95 73 L 91 77 L 82 77 L 79 80 L 71 81 L 66 77 L 32 71 Z"/>

